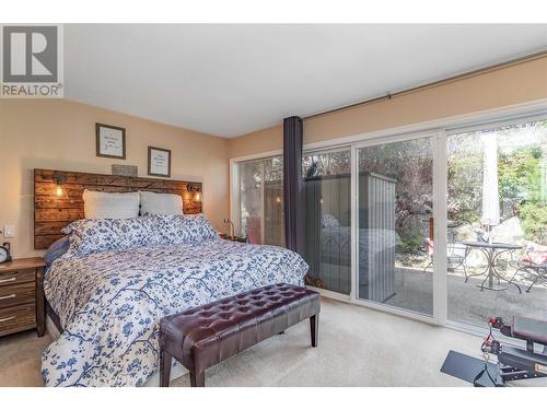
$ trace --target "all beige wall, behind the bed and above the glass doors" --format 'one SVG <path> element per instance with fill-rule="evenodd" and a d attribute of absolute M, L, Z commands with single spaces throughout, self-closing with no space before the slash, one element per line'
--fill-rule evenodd
<path fill-rule="evenodd" d="M 547 97 L 547 57 L 305 120 L 304 142 L 417 124 Z M 95 122 L 125 127 L 127 160 L 95 156 Z M 229 157 L 282 148 L 278 125 L 225 140 L 70 101 L 0 101 L 0 227 L 15 225 L 13 255 L 33 250 L 35 167 L 147 174 L 147 147 L 173 151 L 173 178 L 203 183 L 205 213 L 218 230 L 229 214 Z M 0 235 L 0 242 L 2 241 Z"/>

